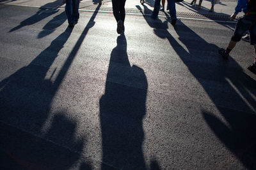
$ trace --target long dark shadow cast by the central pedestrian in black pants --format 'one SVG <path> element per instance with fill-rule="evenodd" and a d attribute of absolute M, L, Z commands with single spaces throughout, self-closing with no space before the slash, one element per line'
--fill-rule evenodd
<path fill-rule="evenodd" d="M 106 89 L 100 98 L 102 169 L 145 169 L 142 144 L 147 77 L 131 66 L 124 34 L 111 52 Z"/>

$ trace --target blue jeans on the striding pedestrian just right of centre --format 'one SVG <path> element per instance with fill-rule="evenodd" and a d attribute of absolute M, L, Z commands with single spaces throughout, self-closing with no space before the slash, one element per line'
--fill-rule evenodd
<path fill-rule="evenodd" d="M 155 6 L 154 6 L 154 11 L 152 13 L 152 18 L 157 18 L 157 15 L 159 13 L 160 9 L 160 1 L 161 0 L 156 0 L 155 1 Z M 174 0 L 167 0 L 168 5 L 169 5 L 169 10 L 170 10 L 170 15 L 172 20 L 176 20 L 176 8 L 175 8 L 175 1 Z"/>

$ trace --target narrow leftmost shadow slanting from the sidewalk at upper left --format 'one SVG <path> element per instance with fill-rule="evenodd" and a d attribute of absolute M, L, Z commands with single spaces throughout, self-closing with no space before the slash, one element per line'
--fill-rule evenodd
<path fill-rule="evenodd" d="M 39 8 L 39 10 L 35 13 L 35 15 L 32 15 L 31 17 L 27 18 L 26 20 L 20 22 L 20 25 L 17 25 L 16 27 L 12 28 L 9 32 L 16 31 L 17 29 L 20 29 L 22 27 L 33 25 L 36 22 L 40 22 L 41 20 L 44 20 L 47 17 L 50 17 L 54 13 L 57 13 L 58 7 L 63 5 L 62 0 L 56 0 L 51 3 L 44 4 Z M 49 8 L 50 6 L 54 6 L 55 8 Z"/>

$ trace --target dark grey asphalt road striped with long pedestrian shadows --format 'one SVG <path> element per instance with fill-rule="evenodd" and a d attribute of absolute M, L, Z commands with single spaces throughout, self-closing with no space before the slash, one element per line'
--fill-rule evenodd
<path fill-rule="evenodd" d="M 234 27 L 0 5 L 0 169 L 256 169 L 253 48 L 218 55 Z"/>

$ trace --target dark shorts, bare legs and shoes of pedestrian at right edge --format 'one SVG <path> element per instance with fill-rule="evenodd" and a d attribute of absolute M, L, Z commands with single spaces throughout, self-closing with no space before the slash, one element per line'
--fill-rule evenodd
<path fill-rule="evenodd" d="M 250 43 L 254 46 L 255 51 L 254 62 L 248 69 L 256 74 L 256 15 L 244 15 L 243 18 L 238 20 L 234 36 L 232 36 L 228 47 L 226 50 L 221 48 L 219 53 L 223 58 L 227 59 L 231 50 L 236 46 L 236 43 L 241 40 L 246 31 L 250 33 Z"/>

